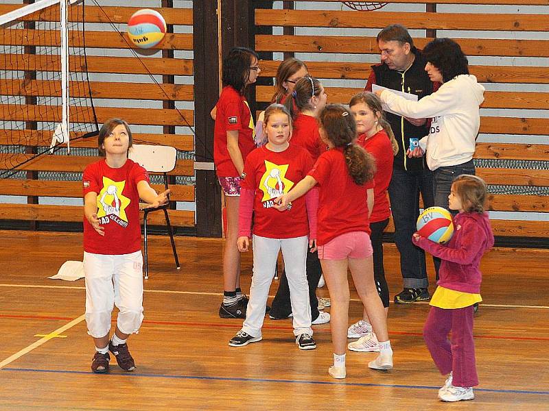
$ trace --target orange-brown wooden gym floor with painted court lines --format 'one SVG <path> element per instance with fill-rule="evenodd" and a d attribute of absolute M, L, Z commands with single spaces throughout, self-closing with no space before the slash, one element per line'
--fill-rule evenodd
<path fill-rule="evenodd" d="M 350 352 L 347 379 L 332 379 L 329 324 L 314 327 L 312 351 L 296 348 L 289 320 L 268 317 L 263 341 L 228 347 L 242 321 L 218 316 L 217 239 L 177 238 L 178 272 L 166 238 L 151 238 L 145 321 L 129 344 L 137 369 L 124 373 L 112 361 L 109 375 L 95 375 L 84 280 L 47 279 L 82 259 L 82 235 L 0 231 L 0 242 L 0 410 L 549 410 L 549 250 L 495 249 L 484 258 L 480 386 L 474 401 L 452 405 L 436 397 L 444 378 L 421 338 L 425 303 L 391 305 L 388 372 L 368 368 L 375 353 Z M 391 296 L 401 286 L 397 264 L 386 245 Z M 251 253 L 242 270 L 247 292 Z M 361 307 L 351 298 L 356 321 Z"/>

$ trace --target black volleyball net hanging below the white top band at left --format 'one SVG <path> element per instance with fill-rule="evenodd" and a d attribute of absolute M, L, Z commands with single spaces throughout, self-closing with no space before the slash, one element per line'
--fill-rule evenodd
<path fill-rule="evenodd" d="M 97 135 L 86 72 L 84 5 L 69 5 L 69 139 Z M 60 8 L 50 6 L 0 26 L 0 177 L 21 177 L 50 153 L 62 120 Z M 57 144 L 51 152 L 67 153 Z"/>

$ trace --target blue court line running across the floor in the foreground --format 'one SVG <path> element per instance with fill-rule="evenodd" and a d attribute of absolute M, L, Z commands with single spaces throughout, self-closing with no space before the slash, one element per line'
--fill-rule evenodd
<path fill-rule="evenodd" d="M 91 371 L 69 371 L 69 370 L 45 370 L 45 369 L 16 369 L 6 368 L 2 371 L 22 372 L 22 373 L 58 373 L 58 374 L 80 374 L 95 375 Z M 366 382 L 334 382 L 317 381 L 314 379 L 271 379 L 271 378 L 244 378 L 244 377 L 209 377 L 207 375 L 169 375 L 169 374 L 141 374 L 141 373 L 113 373 L 120 377 L 150 377 L 150 378 L 170 378 L 170 379 L 205 379 L 210 381 L 236 381 L 236 382 L 270 382 L 279 384 L 316 384 L 333 386 L 358 386 L 358 387 L 379 387 L 379 388 L 407 388 L 416 390 L 439 390 L 439 386 L 415 386 L 406 384 L 374 384 Z M 482 393 L 500 393 L 500 394 L 524 394 L 524 395 L 549 395 L 549 391 L 530 391 L 530 390 L 496 390 L 492 388 L 475 388 L 476 392 Z"/>

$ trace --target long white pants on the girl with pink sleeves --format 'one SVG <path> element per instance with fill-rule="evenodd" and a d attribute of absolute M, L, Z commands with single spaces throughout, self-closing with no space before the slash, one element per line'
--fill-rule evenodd
<path fill-rule="evenodd" d="M 280 249 L 282 249 L 286 277 L 290 286 L 294 335 L 313 334 L 306 273 L 308 242 L 307 236 L 281 239 L 253 236 L 253 277 L 250 301 L 246 308 L 246 320 L 242 326 L 244 332 L 250 336 L 261 335 L 265 305 Z"/>

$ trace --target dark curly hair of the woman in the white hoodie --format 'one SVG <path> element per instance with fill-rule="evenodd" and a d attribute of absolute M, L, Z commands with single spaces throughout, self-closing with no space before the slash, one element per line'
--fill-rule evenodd
<path fill-rule="evenodd" d="M 451 38 L 435 38 L 423 49 L 423 57 L 441 71 L 443 82 L 460 74 L 469 74 L 467 56 Z"/>

